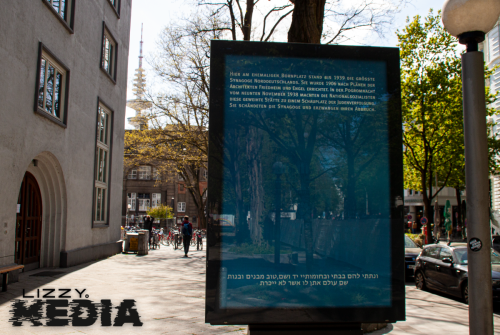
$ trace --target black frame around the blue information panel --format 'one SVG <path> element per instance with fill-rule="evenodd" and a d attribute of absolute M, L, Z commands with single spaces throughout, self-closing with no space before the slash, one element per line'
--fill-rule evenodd
<path fill-rule="evenodd" d="M 225 56 L 300 57 L 383 61 L 387 69 L 389 175 L 391 200 L 392 304 L 369 308 L 225 308 L 218 303 L 221 245 L 218 227 L 210 214 L 221 213 L 223 161 L 221 139 L 224 134 Z M 299 43 L 212 41 L 209 123 L 210 166 L 207 199 L 207 273 L 205 321 L 227 324 L 318 324 L 395 322 L 405 320 L 404 226 L 403 226 L 403 144 L 401 118 L 400 61 L 398 48 L 378 48 Z M 212 242 L 211 242 L 212 241 Z"/>

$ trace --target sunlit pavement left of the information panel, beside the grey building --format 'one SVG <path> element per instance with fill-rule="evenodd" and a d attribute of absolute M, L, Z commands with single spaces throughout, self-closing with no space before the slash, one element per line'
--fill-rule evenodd
<path fill-rule="evenodd" d="M 192 248 L 192 247 L 191 247 Z M 246 334 L 245 326 L 211 326 L 205 324 L 205 253 L 184 252 L 161 246 L 149 255 L 119 254 L 105 260 L 68 269 L 39 269 L 21 274 L 19 282 L 0 293 L 0 334 Z M 61 271 L 55 277 L 32 276 L 36 272 Z M 89 327 L 22 327 L 9 323 L 12 300 L 36 294 L 40 288 L 86 289 L 89 299 L 110 299 L 113 306 L 124 299 L 135 299 L 142 327 L 102 327 L 100 318 Z M 31 291 L 28 293 L 28 291 Z M 113 313 L 116 313 L 114 310 Z M 114 316 L 112 317 L 113 320 Z"/>

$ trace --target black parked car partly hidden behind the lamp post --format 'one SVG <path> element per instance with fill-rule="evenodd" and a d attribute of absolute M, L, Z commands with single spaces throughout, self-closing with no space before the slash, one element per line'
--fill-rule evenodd
<path fill-rule="evenodd" d="M 493 299 L 500 298 L 500 253 L 491 249 Z M 469 303 L 467 244 L 430 244 L 417 257 L 415 286 L 462 298 Z"/>

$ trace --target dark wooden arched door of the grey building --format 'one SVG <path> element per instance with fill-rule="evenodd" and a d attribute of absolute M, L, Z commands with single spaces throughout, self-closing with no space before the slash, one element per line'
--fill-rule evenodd
<path fill-rule="evenodd" d="M 40 267 L 42 197 L 35 177 L 26 172 L 17 200 L 15 262 L 25 270 Z"/>

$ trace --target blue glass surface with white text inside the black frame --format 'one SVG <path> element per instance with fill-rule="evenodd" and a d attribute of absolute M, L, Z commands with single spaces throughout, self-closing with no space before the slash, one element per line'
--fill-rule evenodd
<path fill-rule="evenodd" d="M 391 306 L 386 63 L 225 66 L 220 308 Z"/>

